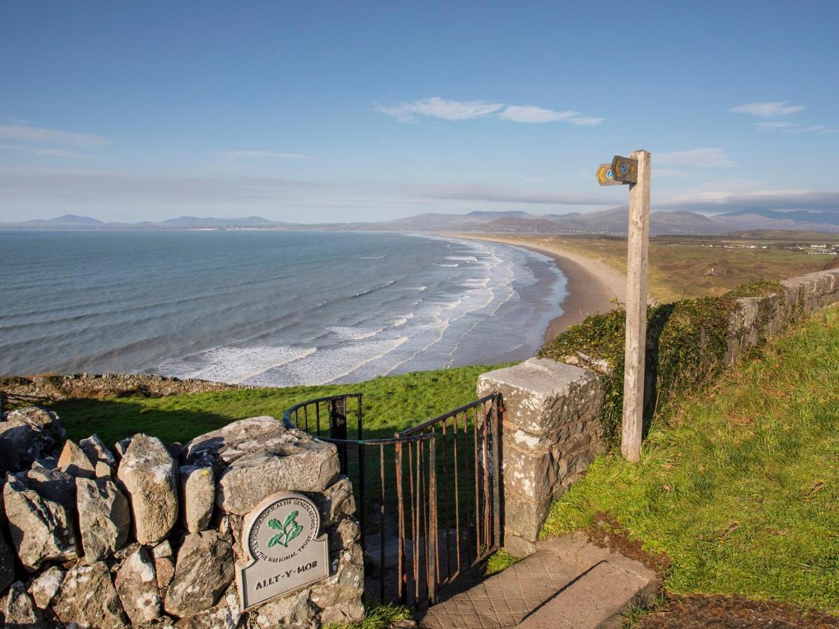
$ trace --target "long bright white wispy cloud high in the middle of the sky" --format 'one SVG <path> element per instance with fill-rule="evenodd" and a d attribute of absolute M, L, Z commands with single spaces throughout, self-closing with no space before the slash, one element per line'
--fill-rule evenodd
<path fill-rule="evenodd" d="M 418 117 L 434 117 L 448 121 L 472 120 L 495 117 L 510 122 L 543 123 L 565 121 L 577 125 L 600 124 L 605 118 L 585 116 L 572 110 L 555 111 L 534 105 L 508 105 L 503 102 L 448 101 L 431 96 L 413 102 L 400 102 L 392 107 L 375 105 L 377 112 L 396 118 L 399 122 L 414 122 Z"/>

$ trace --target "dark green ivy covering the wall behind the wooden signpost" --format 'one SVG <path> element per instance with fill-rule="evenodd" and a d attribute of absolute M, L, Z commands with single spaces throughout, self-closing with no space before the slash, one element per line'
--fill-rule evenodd
<path fill-rule="evenodd" d="M 647 419 L 667 408 L 675 393 L 689 393 L 706 386 L 724 366 L 728 328 L 737 299 L 779 296 L 785 293 L 778 282 L 748 283 L 722 297 L 682 299 L 647 309 Z M 794 309 L 795 310 L 795 309 Z M 762 327 L 773 316 L 773 304 L 763 300 L 755 325 Z M 614 309 L 593 314 L 581 324 L 547 343 L 537 353 L 542 358 L 572 362 L 602 373 L 604 401 L 602 429 L 610 447 L 620 442 L 623 414 L 623 358 L 626 339 L 626 311 Z M 604 367 L 604 363 L 607 367 Z"/>

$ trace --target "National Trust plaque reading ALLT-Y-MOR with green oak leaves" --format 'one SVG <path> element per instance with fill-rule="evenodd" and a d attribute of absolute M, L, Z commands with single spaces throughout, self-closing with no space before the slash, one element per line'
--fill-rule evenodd
<path fill-rule="evenodd" d="M 237 566 L 242 610 L 329 576 L 329 548 L 320 513 L 302 494 L 277 494 L 260 502 L 242 529 L 250 561 Z"/>

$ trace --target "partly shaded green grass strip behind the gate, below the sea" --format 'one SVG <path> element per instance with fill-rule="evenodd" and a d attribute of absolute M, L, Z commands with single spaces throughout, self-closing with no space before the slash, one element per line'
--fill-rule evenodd
<path fill-rule="evenodd" d="M 129 435 L 145 433 L 169 444 L 185 443 L 237 419 L 258 415 L 282 418 L 286 408 L 307 399 L 362 392 L 365 436 L 393 436 L 395 430 L 472 402 L 477 377 L 492 368 L 456 367 L 322 387 L 234 390 L 166 398 L 68 400 L 53 403 L 50 408 L 59 413 L 70 439 L 83 439 L 96 433 L 106 444 L 112 444 Z"/>

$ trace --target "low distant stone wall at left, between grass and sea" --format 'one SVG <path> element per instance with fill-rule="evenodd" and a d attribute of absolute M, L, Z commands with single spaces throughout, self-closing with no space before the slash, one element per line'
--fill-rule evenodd
<path fill-rule="evenodd" d="M 0 378 L 0 391 L 50 400 L 128 396 L 160 398 L 180 393 L 253 388 L 256 387 L 208 380 L 180 380 L 149 373 L 74 373 L 69 376 L 39 373 L 32 377 Z"/>

